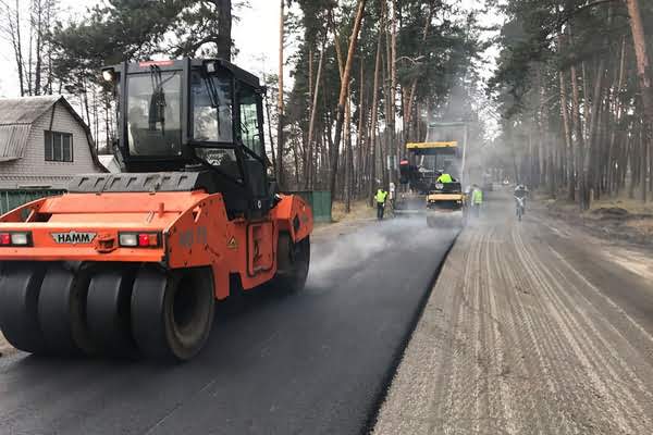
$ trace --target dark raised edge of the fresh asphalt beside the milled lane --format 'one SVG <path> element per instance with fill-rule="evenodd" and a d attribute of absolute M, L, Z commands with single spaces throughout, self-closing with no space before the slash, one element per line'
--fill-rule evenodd
<path fill-rule="evenodd" d="M 371 434 L 372 431 L 374 430 L 374 427 L 377 426 L 377 423 L 379 420 L 379 413 L 381 412 L 381 407 L 383 407 L 383 403 L 385 402 L 385 399 L 387 398 L 387 394 L 390 393 L 390 388 L 392 387 L 392 382 L 393 382 L 395 375 L 397 374 L 397 371 L 399 369 L 402 361 L 404 360 L 404 353 L 406 352 L 406 348 L 408 347 L 408 344 L 410 343 L 410 339 L 412 338 L 412 334 L 415 333 L 415 330 L 417 330 L 417 326 L 419 325 L 419 322 L 421 321 L 421 319 L 423 316 L 424 309 L 427 308 L 427 303 L 429 302 L 429 299 L 431 298 L 431 294 L 433 293 L 433 289 L 435 288 L 438 278 L 440 277 L 440 274 L 441 274 L 442 270 L 444 269 L 444 264 L 446 263 L 446 260 L 448 259 L 451 251 L 454 249 L 456 241 L 458 241 L 458 237 L 460 236 L 460 234 L 464 231 L 465 231 L 465 228 L 463 228 L 461 231 L 459 231 L 456 234 L 456 236 L 452 240 L 452 244 L 444 251 L 442 261 L 440 262 L 438 268 L 435 268 L 435 271 L 433 272 L 433 276 L 432 276 L 431 281 L 429 282 L 429 287 L 427 288 L 423 296 L 419 300 L 419 303 L 415 311 L 414 320 L 410 322 L 410 324 L 408 326 L 408 331 L 406 332 L 406 335 L 399 341 L 399 346 L 397 347 L 397 349 L 395 350 L 395 352 L 392 357 L 392 362 L 390 364 L 390 368 L 387 369 L 387 371 L 385 372 L 385 375 L 383 376 L 383 381 L 381 383 L 381 388 L 380 388 L 379 393 L 377 394 L 377 398 L 372 402 L 371 409 L 368 412 L 368 417 L 366 419 L 365 425 L 360 430 L 361 435 Z"/>

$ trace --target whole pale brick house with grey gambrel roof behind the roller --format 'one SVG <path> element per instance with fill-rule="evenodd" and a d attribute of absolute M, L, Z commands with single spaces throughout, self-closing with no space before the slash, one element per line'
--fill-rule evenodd
<path fill-rule="evenodd" d="M 90 129 L 61 96 L 0 98 L 0 190 L 65 189 L 107 172 Z"/>

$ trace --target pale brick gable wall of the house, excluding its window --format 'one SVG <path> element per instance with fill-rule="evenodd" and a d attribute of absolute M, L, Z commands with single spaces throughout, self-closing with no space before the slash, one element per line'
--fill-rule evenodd
<path fill-rule="evenodd" d="M 53 117 L 52 110 L 54 111 Z M 52 121 L 51 128 L 50 121 Z M 46 161 L 44 132 L 48 129 L 72 133 L 72 162 Z M 32 124 L 23 158 L 11 162 L 0 162 L 0 188 L 15 189 L 19 186 L 65 188 L 73 174 L 94 172 L 100 172 L 100 170 L 93 161 L 90 145 L 84 127 L 66 108 L 57 103 Z"/>

